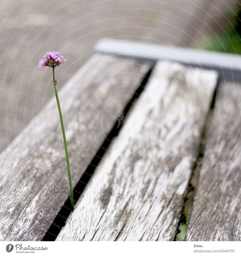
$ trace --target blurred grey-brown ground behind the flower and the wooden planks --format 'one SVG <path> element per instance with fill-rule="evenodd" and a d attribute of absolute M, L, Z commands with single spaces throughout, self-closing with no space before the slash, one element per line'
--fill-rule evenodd
<path fill-rule="evenodd" d="M 53 96 L 51 70 L 38 68 L 46 52 L 60 51 L 67 58 L 56 69 L 60 88 L 99 40 L 205 48 L 214 37 L 205 23 L 223 33 L 239 9 L 236 0 L 2 0 L 0 150 Z"/>

